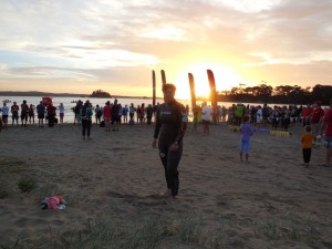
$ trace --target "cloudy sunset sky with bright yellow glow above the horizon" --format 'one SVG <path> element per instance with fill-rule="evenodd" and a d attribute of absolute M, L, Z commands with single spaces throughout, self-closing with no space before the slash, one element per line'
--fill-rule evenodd
<path fill-rule="evenodd" d="M 332 0 L 0 0 L 0 91 L 332 84 Z"/>

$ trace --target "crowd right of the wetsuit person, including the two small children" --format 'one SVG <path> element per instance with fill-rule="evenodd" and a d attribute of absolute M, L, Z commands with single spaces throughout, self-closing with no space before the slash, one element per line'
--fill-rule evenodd
<path fill-rule="evenodd" d="M 307 106 L 268 106 L 232 104 L 229 108 L 225 106 L 211 107 L 206 102 L 193 108 L 193 129 L 197 129 L 197 124 L 204 126 L 204 134 L 209 135 L 209 124 L 224 122 L 229 125 L 239 126 L 241 132 L 240 160 L 249 160 L 250 137 L 253 131 L 260 127 L 270 126 L 272 131 L 280 127 L 288 132 L 291 125 L 301 124 L 304 132 L 301 136 L 303 162 L 308 167 L 311 158 L 312 146 L 318 146 L 324 135 L 324 146 L 326 148 L 326 160 L 324 166 L 330 166 L 332 157 L 332 100 L 330 107 L 322 108 L 320 102 L 314 102 Z"/>

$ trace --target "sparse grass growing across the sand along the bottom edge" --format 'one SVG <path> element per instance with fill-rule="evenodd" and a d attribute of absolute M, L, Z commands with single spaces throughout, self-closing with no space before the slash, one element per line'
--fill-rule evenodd
<path fill-rule="evenodd" d="M 229 220 L 205 224 L 200 212 L 163 215 L 141 212 L 134 217 L 126 217 L 125 220 L 112 214 L 103 212 L 90 218 L 84 229 L 72 229 L 63 234 L 61 229 L 50 227 L 49 234 L 46 232 L 43 238 L 34 240 L 20 238 L 8 242 L 8 246 L 0 245 L 0 249 L 160 249 L 169 248 L 170 245 L 177 245 L 177 248 L 220 249 L 237 247 L 236 245 L 240 243 L 232 245 L 232 241 L 241 240 L 236 237 L 238 235 L 234 230 L 236 227 L 229 230 Z M 323 245 L 321 232 L 312 217 L 281 218 L 282 221 L 273 217 L 258 225 L 256 235 L 259 238 L 258 242 L 263 243 L 264 248 L 273 248 L 273 241 L 277 240 L 295 240 L 314 245 L 312 247 L 315 248 Z M 248 239 L 249 243 L 252 242 L 250 238 Z"/>

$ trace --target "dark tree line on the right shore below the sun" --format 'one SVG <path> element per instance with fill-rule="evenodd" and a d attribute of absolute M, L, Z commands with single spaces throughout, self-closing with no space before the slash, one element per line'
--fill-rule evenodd
<path fill-rule="evenodd" d="M 317 84 L 302 89 L 299 85 L 279 85 L 272 87 L 267 84 L 257 86 L 232 87 L 230 91 L 217 92 L 219 102 L 277 103 L 277 104 L 312 104 L 320 101 L 329 105 L 332 97 L 331 85 Z"/>

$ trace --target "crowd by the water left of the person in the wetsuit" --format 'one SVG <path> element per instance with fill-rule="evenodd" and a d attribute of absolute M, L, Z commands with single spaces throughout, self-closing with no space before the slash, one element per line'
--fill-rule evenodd
<path fill-rule="evenodd" d="M 157 108 L 157 106 L 153 107 L 152 104 L 145 106 L 144 103 L 137 106 L 134 106 L 133 103 L 129 106 L 127 104 L 122 106 L 121 103 L 117 103 L 117 100 L 115 100 L 114 103 L 107 101 L 104 106 L 92 106 L 90 101 L 87 101 L 87 103 L 94 111 L 95 123 L 102 125 L 108 121 L 112 124 L 135 124 L 134 116 L 136 116 L 136 123 L 146 123 L 151 125 L 153 115 Z M 82 124 L 83 106 L 84 103 L 77 101 L 76 105 L 72 107 L 74 113 L 74 124 Z M 53 127 L 55 123 L 64 123 L 65 107 L 63 103 L 59 106 L 54 106 L 53 103 L 45 104 L 42 101 L 37 106 L 33 104 L 28 105 L 25 100 L 21 104 L 13 102 L 11 106 L 8 106 L 8 103 L 3 101 L 3 106 L 0 107 L 0 112 L 4 128 L 9 125 L 10 115 L 12 126 L 17 124 L 27 127 L 28 122 L 29 124 L 34 124 L 34 118 L 37 116 L 40 127 L 43 127 L 44 123 L 49 124 L 50 127 Z M 114 129 L 118 131 L 118 127 L 115 127 Z"/>

